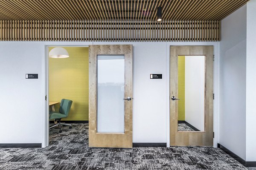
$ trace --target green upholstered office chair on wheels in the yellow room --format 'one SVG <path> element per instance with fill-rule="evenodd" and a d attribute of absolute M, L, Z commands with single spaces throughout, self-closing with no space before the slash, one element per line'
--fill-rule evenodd
<path fill-rule="evenodd" d="M 63 125 L 63 126 L 67 125 L 67 126 L 70 126 L 69 127 L 70 129 L 72 128 L 72 125 L 70 125 L 70 124 L 61 123 L 61 118 L 68 116 L 72 102 L 73 102 L 72 100 L 61 99 L 61 105 L 60 105 L 59 112 L 50 111 L 49 119 L 54 119 L 54 121 L 57 121 L 58 123 L 56 125 L 49 127 L 49 129 L 51 129 L 52 127 L 58 126 L 60 128 L 59 132 L 61 133 L 62 132 L 61 125 Z"/>

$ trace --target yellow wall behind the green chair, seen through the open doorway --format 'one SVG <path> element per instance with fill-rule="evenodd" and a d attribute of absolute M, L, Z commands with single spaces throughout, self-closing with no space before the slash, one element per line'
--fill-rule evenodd
<path fill-rule="evenodd" d="M 88 120 L 89 54 L 87 47 L 64 47 L 70 57 L 49 58 L 49 101 L 73 100 L 63 120 Z M 52 48 L 49 48 L 51 50 Z M 59 105 L 55 105 L 58 111 Z"/>

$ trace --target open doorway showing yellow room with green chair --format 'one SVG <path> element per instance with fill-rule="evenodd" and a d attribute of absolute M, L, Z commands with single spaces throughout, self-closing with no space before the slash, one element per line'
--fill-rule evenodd
<path fill-rule="evenodd" d="M 69 57 L 49 57 L 49 51 L 56 47 L 64 48 Z M 71 131 L 74 130 L 72 128 L 76 128 L 76 123 L 88 123 L 89 50 L 88 46 L 48 45 L 46 53 L 46 146 L 48 146 L 58 142 L 63 136 L 73 133 Z M 65 104 L 66 101 L 68 103 Z M 58 124 L 59 122 L 64 124 Z M 49 127 L 52 128 L 49 130 Z"/>

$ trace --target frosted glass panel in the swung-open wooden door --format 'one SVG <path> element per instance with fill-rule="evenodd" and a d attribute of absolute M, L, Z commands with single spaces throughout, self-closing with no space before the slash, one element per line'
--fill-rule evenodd
<path fill-rule="evenodd" d="M 97 55 L 97 132 L 125 132 L 125 57 Z"/>

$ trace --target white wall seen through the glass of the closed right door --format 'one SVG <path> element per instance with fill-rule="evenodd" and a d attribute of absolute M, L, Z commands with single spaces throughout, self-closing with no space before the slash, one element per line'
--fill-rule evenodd
<path fill-rule="evenodd" d="M 204 131 L 205 57 L 185 56 L 185 121 Z"/>

